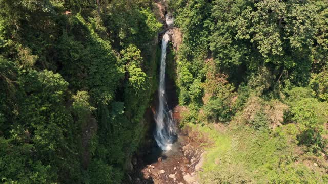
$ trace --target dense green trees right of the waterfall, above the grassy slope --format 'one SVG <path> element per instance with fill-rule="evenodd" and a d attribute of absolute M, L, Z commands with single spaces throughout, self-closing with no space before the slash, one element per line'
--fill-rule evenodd
<path fill-rule="evenodd" d="M 221 106 L 214 113 L 228 122 L 242 104 L 241 98 L 229 104 L 229 91 L 281 99 L 280 92 L 305 87 L 326 101 L 325 1 L 181 0 L 171 7 L 183 32 L 177 52 L 181 105 L 199 110 L 209 94 L 207 105 Z"/>

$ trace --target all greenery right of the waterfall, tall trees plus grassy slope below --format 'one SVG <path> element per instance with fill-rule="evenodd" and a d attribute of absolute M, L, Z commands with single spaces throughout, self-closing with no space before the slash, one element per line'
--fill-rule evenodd
<path fill-rule="evenodd" d="M 182 125 L 211 142 L 202 183 L 328 182 L 328 4 L 170 6 L 183 33 L 176 54 L 179 103 L 188 107 Z"/>

